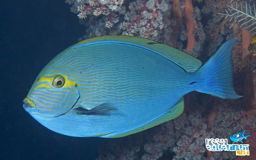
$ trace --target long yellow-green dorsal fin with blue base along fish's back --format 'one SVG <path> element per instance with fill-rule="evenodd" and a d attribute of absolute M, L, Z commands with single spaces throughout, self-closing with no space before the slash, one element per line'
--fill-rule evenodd
<path fill-rule="evenodd" d="M 87 46 L 92 44 L 100 44 L 100 43 L 124 43 L 130 44 L 138 47 L 142 47 L 148 50 L 159 54 L 177 64 L 181 68 L 183 68 L 186 72 L 192 73 L 197 71 L 201 66 L 202 62 L 193 56 L 168 46 L 166 44 L 162 44 L 151 39 L 141 38 L 141 37 L 133 37 L 127 35 L 106 35 L 93 37 L 89 39 L 85 39 L 77 44 L 74 44 L 72 47 L 77 46 Z"/>

